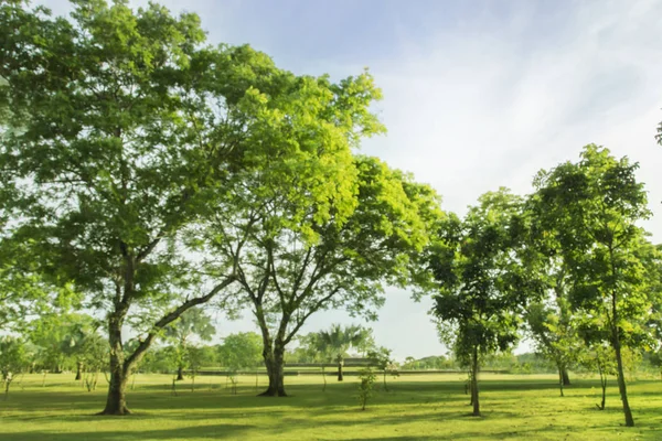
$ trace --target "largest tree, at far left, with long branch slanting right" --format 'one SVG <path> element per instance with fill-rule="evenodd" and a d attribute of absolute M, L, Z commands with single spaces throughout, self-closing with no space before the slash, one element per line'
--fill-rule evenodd
<path fill-rule="evenodd" d="M 21 190 L 11 235 L 30 244 L 40 273 L 107 318 L 102 413 L 125 415 L 128 375 L 153 340 L 236 279 L 232 263 L 213 282 L 196 271 L 182 230 L 223 205 L 250 149 L 268 144 L 266 97 L 289 85 L 249 47 L 205 46 L 195 14 L 72 2 L 71 19 L 0 6 L 0 105 L 11 108 L 0 169 L 3 190 Z M 128 324 L 140 344 L 125 355 Z"/>

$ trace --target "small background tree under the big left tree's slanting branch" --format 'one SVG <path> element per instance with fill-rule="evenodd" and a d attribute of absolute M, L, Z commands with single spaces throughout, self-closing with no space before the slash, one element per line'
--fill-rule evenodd
<path fill-rule="evenodd" d="M 203 342 L 212 340 L 216 329 L 212 319 L 200 308 L 191 308 L 184 312 L 175 322 L 166 327 L 164 337 L 174 343 L 179 354 L 177 365 L 177 380 L 184 379 L 184 365 L 190 358 L 189 346 L 191 338 L 197 336 Z"/>

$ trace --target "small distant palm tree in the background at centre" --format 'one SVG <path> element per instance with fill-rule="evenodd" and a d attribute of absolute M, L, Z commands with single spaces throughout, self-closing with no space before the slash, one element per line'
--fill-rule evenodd
<path fill-rule="evenodd" d="M 322 354 L 330 354 L 338 363 L 338 380 L 343 380 L 342 367 L 344 357 L 351 348 L 365 352 L 373 345 L 372 330 L 359 326 L 341 326 L 340 324 L 331 325 L 329 331 L 320 331 L 319 351 Z"/>

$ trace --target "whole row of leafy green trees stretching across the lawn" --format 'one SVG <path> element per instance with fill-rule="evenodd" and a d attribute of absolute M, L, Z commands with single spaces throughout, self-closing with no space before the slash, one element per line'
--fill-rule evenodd
<path fill-rule="evenodd" d="M 623 352 L 659 353 L 662 284 L 636 163 L 590 144 L 532 194 L 500 189 L 460 217 L 357 153 L 385 132 L 367 72 L 296 75 L 156 3 L 72 6 L 0 6 L 0 325 L 102 316 L 102 413 L 129 412 L 131 373 L 160 338 L 185 345 L 201 305 L 250 311 L 263 395 L 285 396 L 287 347 L 316 312 L 375 320 L 385 287 L 406 287 L 434 297 L 474 415 L 481 363 L 528 326 L 562 384 L 579 353 L 613 365 L 633 426 Z M 328 355 L 333 333 L 308 343 Z"/>

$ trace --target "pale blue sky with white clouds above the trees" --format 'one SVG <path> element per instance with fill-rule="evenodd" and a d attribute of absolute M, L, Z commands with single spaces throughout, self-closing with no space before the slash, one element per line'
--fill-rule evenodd
<path fill-rule="evenodd" d="M 199 13 L 211 43 L 248 43 L 297 74 L 340 79 L 369 67 L 388 132 L 362 153 L 434 186 L 446 211 L 461 215 L 500 186 L 530 193 L 538 170 L 597 143 L 640 163 L 654 213 L 643 226 L 662 241 L 662 1 L 160 2 Z M 70 10 L 64 0 L 41 3 Z M 367 325 L 397 359 L 438 355 L 430 305 L 389 290 Z M 361 323 L 323 312 L 302 332 L 337 322 Z M 217 326 L 220 335 L 257 330 L 248 314 Z"/>

